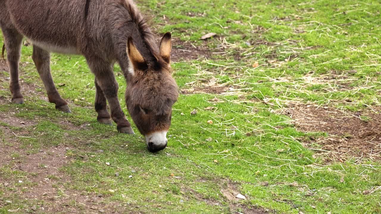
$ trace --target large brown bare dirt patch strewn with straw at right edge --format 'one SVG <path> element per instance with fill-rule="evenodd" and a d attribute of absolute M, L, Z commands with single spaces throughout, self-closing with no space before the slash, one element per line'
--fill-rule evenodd
<path fill-rule="evenodd" d="M 381 160 L 381 114 L 379 110 L 344 112 L 316 106 L 298 106 L 285 111 L 298 131 L 326 132 L 328 137 L 306 141 L 309 147 L 322 145 L 322 153 L 338 161 L 349 158 Z M 319 152 L 319 150 L 316 150 Z M 330 152 L 327 152 L 330 151 Z"/>

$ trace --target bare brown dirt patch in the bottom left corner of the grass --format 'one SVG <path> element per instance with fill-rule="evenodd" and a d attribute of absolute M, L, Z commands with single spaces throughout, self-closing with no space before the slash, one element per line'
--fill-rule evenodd
<path fill-rule="evenodd" d="M 5 150 L 3 150 L 5 149 Z M 26 176 L 1 177 L 0 184 L 5 186 L 5 195 L 20 195 L 32 202 L 33 206 L 23 212 L 44 213 L 125 213 L 122 204 L 109 202 L 107 197 L 88 192 L 68 189 L 72 177 L 60 169 L 72 160 L 66 156 L 64 146 L 51 147 L 29 154 L 15 141 L 12 146 L 2 146 L 1 162 L 9 169 Z M 17 154 L 17 156 L 15 156 Z M 17 174 L 19 174 L 17 173 Z M 28 185 L 20 186 L 20 183 Z M 0 200 L 1 201 L 1 200 Z M 0 206 L 2 203 L 0 202 Z"/>

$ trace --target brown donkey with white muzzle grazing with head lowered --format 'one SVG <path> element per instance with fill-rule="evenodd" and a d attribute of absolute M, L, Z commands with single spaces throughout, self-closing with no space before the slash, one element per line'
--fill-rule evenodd
<path fill-rule="evenodd" d="M 32 59 L 49 102 L 56 109 L 70 112 L 51 77 L 50 52 L 82 54 L 95 75 L 97 120 L 110 124 L 112 118 L 119 132 L 134 134 L 117 97 L 113 72 L 117 62 L 127 83 L 128 112 L 146 137 L 148 150 L 166 147 L 172 105 L 178 99 L 178 86 L 171 76 L 171 34 L 166 33 L 155 46 L 154 34 L 132 0 L 0 0 L 0 27 L 13 103 L 24 103 L 18 66 L 22 38 L 27 37 L 33 43 Z"/>

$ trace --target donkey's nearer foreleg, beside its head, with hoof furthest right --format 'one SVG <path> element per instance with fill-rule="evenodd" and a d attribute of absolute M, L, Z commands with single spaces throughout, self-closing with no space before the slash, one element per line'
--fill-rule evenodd
<path fill-rule="evenodd" d="M 117 124 L 117 129 L 121 133 L 134 134 L 130 122 L 126 119 L 118 100 L 118 83 L 115 80 L 111 63 L 102 59 L 88 59 L 91 72 L 94 73 L 96 83 L 103 91 L 109 102 L 111 118 Z"/>

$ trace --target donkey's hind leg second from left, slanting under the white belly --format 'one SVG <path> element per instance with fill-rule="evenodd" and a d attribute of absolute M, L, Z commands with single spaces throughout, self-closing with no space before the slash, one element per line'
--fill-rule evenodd
<path fill-rule="evenodd" d="M 49 102 L 56 104 L 56 109 L 62 112 L 70 113 L 67 102 L 59 95 L 53 78 L 50 73 L 50 53 L 48 51 L 33 45 L 32 59 L 36 65 L 38 74 L 45 85 L 46 93 L 48 94 Z"/>

